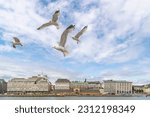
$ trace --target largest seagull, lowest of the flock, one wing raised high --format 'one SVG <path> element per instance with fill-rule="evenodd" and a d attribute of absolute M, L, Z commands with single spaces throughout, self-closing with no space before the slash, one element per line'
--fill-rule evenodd
<path fill-rule="evenodd" d="M 67 51 L 67 49 L 65 48 L 65 44 L 66 44 L 66 41 L 67 41 L 67 36 L 70 32 L 72 32 L 73 30 L 75 29 L 75 25 L 70 25 L 66 28 L 66 30 L 62 33 L 61 35 L 61 39 L 60 39 L 60 42 L 58 42 L 59 46 L 54 46 L 53 48 L 58 50 L 58 51 L 61 51 L 64 55 L 64 57 L 69 53 Z"/>

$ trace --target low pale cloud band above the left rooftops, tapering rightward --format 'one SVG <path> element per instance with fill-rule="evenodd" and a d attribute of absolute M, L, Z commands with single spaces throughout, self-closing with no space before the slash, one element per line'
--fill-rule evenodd
<path fill-rule="evenodd" d="M 0 61 L 0 77 L 9 76 L 7 79 L 11 79 L 13 77 L 30 77 L 44 73 L 48 75 L 51 82 L 54 82 L 57 78 L 68 78 L 71 80 L 80 76 L 80 74 L 69 70 L 45 66 L 41 63 L 32 62 L 30 60 L 14 60 L 0 56 Z"/>

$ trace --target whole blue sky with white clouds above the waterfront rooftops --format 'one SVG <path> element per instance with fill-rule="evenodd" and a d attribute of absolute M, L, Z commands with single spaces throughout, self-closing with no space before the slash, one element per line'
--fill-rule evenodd
<path fill-rule="evenodd" d="M 150 0 L 0 0 L 0 78 L 47 74 L 70 80 L 150 83 Z M 60 29 L 36 30 L 60 9 Z M 52 47 L 70 24 L 69 55 Z M 88 25 L 81 43 L 72 40 Z M 23 47 L 12 48 L 12 37 Z"/>

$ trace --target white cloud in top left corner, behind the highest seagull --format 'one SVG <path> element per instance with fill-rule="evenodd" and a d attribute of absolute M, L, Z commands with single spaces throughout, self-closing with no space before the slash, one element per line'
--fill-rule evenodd
<path fill-rule="evenodd" d="M 42 42 L 45 45 L 50 45 L 51 40 L 59 38 L 56 34 L 60 34 L 61 31 L 56 29 L 49 30 L 49 32 L 36 30 L 42 23 L 50 20 L 37 14 L 36 9 L 38 9 L 38 6 L 36 8 L 36 4 L 35 1 L 30 0 L 11 0 L 7 3 L 1 1 L 0 6 L 3 6 L 3 8 L 0 10 L 0 18 L 2 19 L 0 25 L 5 30 L 4 35 L 13 33 L 13 35 L 25 38 L 23 39 L 24 43 L 34 42 L 40 44 Z M 51 39 L 52 37 L 54 39 Z"/>

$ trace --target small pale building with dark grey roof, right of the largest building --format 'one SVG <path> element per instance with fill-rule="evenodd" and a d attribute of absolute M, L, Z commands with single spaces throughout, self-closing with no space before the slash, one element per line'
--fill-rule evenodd
<path fill-rule="evenodd" d="M 57 79 L 55 82 L 55 90 L 70 90 L 70 80 L 68 79 Z"/>

